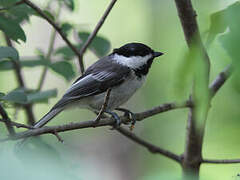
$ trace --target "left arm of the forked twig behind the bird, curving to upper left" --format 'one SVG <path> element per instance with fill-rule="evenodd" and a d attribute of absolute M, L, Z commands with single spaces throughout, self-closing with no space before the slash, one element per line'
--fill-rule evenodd
<path fill-rule="evenodd" d="M 56 29 L 56 31 L 60 34 L 60 36 L 62 37 L 62 39 L 66 42 L 66 44 L 71 48 L 71 50 L 76 54 L 76 56 L 78 57 L 79 62 L 82 61 L 81 55 L 78 51 L 78 49 L 69 41 L 69 39 L 67 38 L 67 36 L 62 32 L 61 28 L 54 22 L 52 21 L 37 5 L 35 5 L 34 3 L 32 3 L 29 0 L 23 0 L 25 4 L 27 4 L 29 7 L 31 7 L 32 9 L 34 9 L 42 18 L 44 18 L 49 24 L 51 24 L 53 26 L 54 29 Z M 81 64 L 83 65 L 83 62 L 81 62 Z M 84 67 L 81 67 L 81 73 L 83 73 L 84 71 Z"/>

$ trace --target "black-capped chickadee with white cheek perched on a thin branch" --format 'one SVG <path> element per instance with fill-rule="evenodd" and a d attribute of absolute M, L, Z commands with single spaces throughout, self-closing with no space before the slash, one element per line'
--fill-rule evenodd
<path fill-rule="evenodd" d="M 154 58 L 161 55 L 163 55 L 162 52 L 156 52 L 149 46 L 138 42 L 127 43 L 120 48 L 113 49 L 112 53 L 89 66 L 33 127 L 43 127 L 60 112 L 70 107 L 77 106 L 99 112 L 108 90 L 111 91 L 105 112 L 115 119 L 115 127 L 118 127 L 121 122 L 114 110 L 134 115 L 120 106 L 126 103 L 144 84 Z"/>

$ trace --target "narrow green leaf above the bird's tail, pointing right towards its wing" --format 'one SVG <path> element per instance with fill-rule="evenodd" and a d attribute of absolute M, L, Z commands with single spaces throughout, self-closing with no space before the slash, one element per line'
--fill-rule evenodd
<path fill-rule="evenodd" d="M 48 102 L 49 98 L 56 97 L 56 96 L 57 96 L 56 89 L 34 92 L 27 95 L 27 102 L 28 103 Z"/>

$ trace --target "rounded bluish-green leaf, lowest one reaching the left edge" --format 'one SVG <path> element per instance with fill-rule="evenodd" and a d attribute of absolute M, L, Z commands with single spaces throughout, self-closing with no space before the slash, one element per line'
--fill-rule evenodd
<path fill-rule="evenodd" d="M 27 95 L 23 89 L 15 89 L 3 96 L 1 99 L 14 103 L 25 104 L 27 102 Z"/>

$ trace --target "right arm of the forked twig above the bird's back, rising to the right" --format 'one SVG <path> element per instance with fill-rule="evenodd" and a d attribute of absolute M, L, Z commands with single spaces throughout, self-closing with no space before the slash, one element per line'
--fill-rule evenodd
<path fill-rule="evenodd" d="M 109 6 L 107 7 L 106 11 L 104 12 L 103 16 L 101 17 L 101 19 L 99 20 L 99 22 L 97 23 L 95 29 L 93 30 L 93 32 L 89 35 L 87 41 L 83 44 L 81 50 L 80 50 L 80 59 L 79 60 L 79 66 L 81 69 L 81 72 L 84 72 L 84 66 L 83 66 L 83 54 L 85 53 L 85 51 L 87 50 L 88 46 L 91 44 L 92 40 L 94 39 L 94 37 L 97 35 L 99 29 L 102 27 L 104 21 L 106 20 L 107 16 L 109 15 L 110 11 L 112 10 L 114 4 L 117 2 L 117 0 L 112 0 L 111 3 L 109 4 Z"/>

